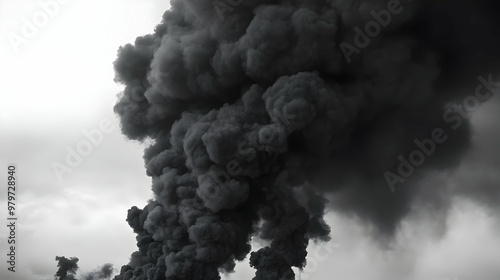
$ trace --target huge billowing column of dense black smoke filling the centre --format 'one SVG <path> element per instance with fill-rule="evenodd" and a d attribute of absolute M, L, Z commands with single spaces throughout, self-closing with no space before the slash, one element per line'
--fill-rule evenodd
<path fill-rule="evenodd" d="M 498 61 L 481 45 L 493 5 L 470 2 L 172 0 L 114 65 L 123 133 L 153 141 L 154 193 L 128 212 L 139 250 L 115 279 L 220 279 L 253 236 L 268 242 L 254 279 L 293 279 L 309 240 L 329 240 L 326 195 L 381 237 L 422 194 L 446 209 L 446 190 L 418 178 L 460 162 L 469 125 L 443 112 L 470 94 L 457 78 Z M 391 192 L 384 172 L 436 128 L 446 143 Z"/>

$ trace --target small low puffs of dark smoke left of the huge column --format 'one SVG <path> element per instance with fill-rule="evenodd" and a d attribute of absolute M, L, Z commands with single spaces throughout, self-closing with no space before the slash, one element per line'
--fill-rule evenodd
<path fill-rule="evenodd" d="M 76 272 L 78 271 L 78 258 L 57 257 L 57 270 L 55 276 L 57 280 L 78 280 Z M 107 280 L 113 275 L 113 265 L 105 264 L 102 267 L 85 273 L 80 280 Z"/>

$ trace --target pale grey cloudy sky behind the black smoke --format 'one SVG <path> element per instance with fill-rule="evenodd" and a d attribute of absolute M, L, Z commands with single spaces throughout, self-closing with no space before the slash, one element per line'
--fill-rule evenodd
<path fill-rule="evenodd" d="M 40 3 L 45 2 L 51 1 L 0 0 L 0 178 L 5 186 L 7 165 L 17 166 L 19 219 L 15 273 L 5 261 L 7 229 L 0 230 L 0 278 L 53 279 L 55 256 L 78 257 L 82 273 L 104 263 L 118 273 L 137 248 L 125 221 L 127 209 L 144 205 L 152 194 L 142 160 L 146 144 L 127 140 L 112 110 L 123 90 L 113 80 L 112 63 L 119 46 L 153 31 L 169 4 L 70 0 L 44 16 Z M 34 29 L 26 27 L 33 23 Z M 467 186 L 448 198 L 444 217 L 415 204 L 386 246 L 361 220 L 330 211 L 332 240 L 311 243 L 302 279 L 498 278 L 498 197 L 470 199 L 467 190 L 500 184 L 500 138 L 491 133 L 500 128 L 499 106 L 494 96 L 474 113 L 473 145 L 457 168 L 419 181 Z M 92 133 L 102 137 L 87 145 L 86 135 Z M 80 159 L 72 156 L 79 148 L 88 151 Z M 0 219 L 7 223 L 5 193 Z M 253 274 L 245 261 L 223 277 L 251 279 Z"/>

